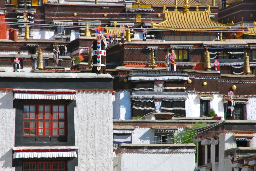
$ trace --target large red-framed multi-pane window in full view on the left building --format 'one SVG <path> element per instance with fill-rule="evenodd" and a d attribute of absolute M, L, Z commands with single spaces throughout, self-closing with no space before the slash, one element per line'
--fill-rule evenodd
<path fill-rule="evenodd" d="M 65 105 L 23 105 L 24 136 L 65 136 Z"/>

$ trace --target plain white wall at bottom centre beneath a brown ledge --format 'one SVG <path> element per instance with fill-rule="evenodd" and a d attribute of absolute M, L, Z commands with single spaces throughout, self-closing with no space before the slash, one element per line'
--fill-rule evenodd
<path fill-rule="evenodd" d="M 184 151 L 187 149 L 183 149 Z M 156 150 L 157 151 L 157 150 Z M 195 169 L 194 153 L 119 153 L 120 170 L 168 170 L 193 171 Z"/>

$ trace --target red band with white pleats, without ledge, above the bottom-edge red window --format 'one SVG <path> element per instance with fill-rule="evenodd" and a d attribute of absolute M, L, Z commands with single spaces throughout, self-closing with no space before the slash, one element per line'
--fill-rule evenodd
<path fill-rule="evenodd" d="M 56 157 L 77 157 L 76 149 L 26 149 L 14 150 L 13 153 L 13 159 Z"/>

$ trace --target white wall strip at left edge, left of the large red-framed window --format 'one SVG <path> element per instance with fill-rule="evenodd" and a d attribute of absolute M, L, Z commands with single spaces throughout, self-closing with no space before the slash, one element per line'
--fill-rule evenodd
<path fill-rule="evenodd" d="M 12 91 L 0 91 L 0 170 L 14 171 L 12 167 L 12 147 L 15 135 L 15 109 Z"/>

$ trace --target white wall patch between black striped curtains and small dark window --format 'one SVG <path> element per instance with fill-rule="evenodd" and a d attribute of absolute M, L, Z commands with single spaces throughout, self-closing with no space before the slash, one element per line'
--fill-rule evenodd
<path fill-rule="evenodd" d="M 200 117 L 200 98 L 197 94 L 189 93 L 186 105 L 186 117 Z"/>

